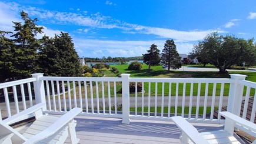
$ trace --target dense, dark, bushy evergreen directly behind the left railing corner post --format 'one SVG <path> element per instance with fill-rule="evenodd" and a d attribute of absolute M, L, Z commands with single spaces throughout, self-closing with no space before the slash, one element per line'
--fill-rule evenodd
<path fill-rule="evenodd" d="M 54 38 L 44 36 L 39 52 L 41 71 L 48 76 L 80 76 L 80 63 L 74 43 L 68 33 L 61 32 Z"/>

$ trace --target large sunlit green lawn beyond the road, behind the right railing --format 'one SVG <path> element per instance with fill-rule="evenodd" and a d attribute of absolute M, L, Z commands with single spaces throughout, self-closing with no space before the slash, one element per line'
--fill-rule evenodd
<path fill-rule="evenodd" d="M 119 72 L 121 73 L 130 73 L 131 77 L 139 77 L 139 78 L 230 78 L 230 75 L 224 74 L 224 75 L 218 75 L 217 72 L 181 72 L 181 71 L 171 71 L 167 72 L 166 69 L 163 69 L 162 66 L 152 66 L 151 72 L 148 72 L 148 66 L 143 65 L 142 69 L 139 71 L 129 71 L 128 65 L 112 65 L 113 67 L 117 68 Z M 111 67 L 112 67 L 111 66 Z M 239 73 L 242 75 L 247 75 L 248 77 L 246 80 L 256 82 L 256 72 L 244 72 L 244 71 L 237 71 L 237 72 L 230 72 L 230 73 Z M 106 76 L 109 75 L 108 73 L 105 73 Z M 191 83 L 186 83 L 186 95 L 189 95 L 190 93 L 190 86 Z M 224 96 L 228 95 L 228 90 L 229 90 L 230 85 L 225 84 L 224 85 Z M 148 88 L 149 88 L 149 83 L 145 82 L 144 83 L 144 95 L 148 95 Z M 212 88 L 213 88 L 213 83 L 209 84 L 209 89 L 208 89 L 208 95 L 212 95 Z M 165 89 L 165 95 L 168 95 L 168 89 L 169 89 L 169 83 L 165 83 L 164 85 Z M 176 89 L 176 83 L 172 83 L 172 95 L 175 95 L 175 89 Z M 197 95 L 197 89 L 198 89 L 198 83 L 194 83 L 194 91 L 193 95 Z M 221 84 L 217 83 L 217 91 L 216 95 L 220 95 L 220 89 L 221 89 Z M 183 83 L 179 83 L 179 89 L 178 89 L 178 95 L 182 95 L 183 91 Z M 254 89 L 251 91 L 251 95 L 254 95 Z M 158 83 L 158 89 L 157 89 L 158 95 L 162 95 L 162 83 Z M 155 94 L 155 83 L 151 83 L 151 95 Z M 205 94 L 205 83 L 201 84 L 201 92 L 200 95 Z M 134 96 L 134 93 L 131 93 L 131 96 Z M 245 95 L 245 92 L 244 92 Z M 141 93 L 138 93 L 138 96 L 141 96 Z"/>

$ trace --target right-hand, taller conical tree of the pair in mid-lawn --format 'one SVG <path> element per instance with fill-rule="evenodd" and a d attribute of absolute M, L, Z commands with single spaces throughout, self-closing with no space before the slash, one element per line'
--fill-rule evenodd
<path fill-rule="evenodd" d="M 181 68 L 181 57 L 177 52 L 174 40 L 167 40 L 164 43 L 164 49 L 162 49 L 162 65 L 167 66 L 169 69 L 179 69 Z"/>

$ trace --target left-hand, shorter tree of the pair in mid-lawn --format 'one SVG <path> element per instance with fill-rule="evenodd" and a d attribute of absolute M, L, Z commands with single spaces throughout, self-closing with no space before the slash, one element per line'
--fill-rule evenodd
<path fill-rule="evenodd" d="M 150 71 L 151 66 L 159 65 L 159 62 L 161 59 L 159 58 L 159 52 L 160 50 L 157 48 L 157 45 L 152 44 L 147 51 L 148 53 L 145 53 L 142 55 L 143 62 L 148 65 L 148 72 Z"/>

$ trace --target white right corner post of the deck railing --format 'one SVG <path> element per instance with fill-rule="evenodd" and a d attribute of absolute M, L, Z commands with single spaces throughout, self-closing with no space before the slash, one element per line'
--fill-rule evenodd
<path fill-rule="evenodd" d="M 244 86 L 239 81 L 244 80 L 247 75 L 230 74 L 231 79 L 235 80 L 235 83 L 230 83 L 230 93 L 228 96 L 228 108 L 227 111 L 240 116 L 242 93 Z"/>

